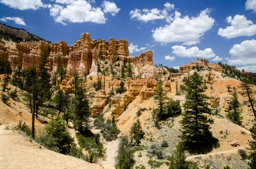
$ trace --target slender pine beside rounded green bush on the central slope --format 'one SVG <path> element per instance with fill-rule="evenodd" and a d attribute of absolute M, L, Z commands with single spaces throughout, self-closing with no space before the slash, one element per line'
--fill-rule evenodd
<path fill-rule="evenodd" d="M 154 95 L 155 95 L 154 99 L 158 100 L 158 109 L 159 109 L 158 114 L 162 115 L 164 114 L 164 111 L 165 111 L 164 109 L 165 109 L 166 100 L 168 100 L 168 97 L 166 96 L 167 93 L 163 89 L 163 81 L 160 80 L 157 83 L 157 92 L 155 92 Z"/>

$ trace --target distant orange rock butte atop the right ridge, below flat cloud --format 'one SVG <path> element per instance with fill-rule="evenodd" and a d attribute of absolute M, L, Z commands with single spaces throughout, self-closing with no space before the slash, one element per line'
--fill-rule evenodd
<path fill-rule="evenodd" d="M 216 63 L 209 63 L 209 60 L 198 58 L 197 61 L 190 61 L 188 65 L 180 66 L 179 73 L 187 73 L 194 69 L 195 66 L 210 67 L 216 72 L 221 72 L 222 68 Z"/>

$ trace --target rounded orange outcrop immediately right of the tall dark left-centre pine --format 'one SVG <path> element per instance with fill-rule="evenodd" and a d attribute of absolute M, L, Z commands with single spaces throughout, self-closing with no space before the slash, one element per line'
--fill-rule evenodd
<path fill-rule="evenodd" d="M 91 104 L 91 112 L 94 116 L 98 116 L 102 112 L 103 108 L 108 104 L 109 95 L 106 94 L 105 90 L 99 90 L 96 92 L 93 103 Z"/>

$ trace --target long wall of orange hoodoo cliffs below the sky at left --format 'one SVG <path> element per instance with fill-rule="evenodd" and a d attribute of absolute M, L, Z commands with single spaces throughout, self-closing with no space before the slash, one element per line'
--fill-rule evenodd
<path fill-rule="evenodd" d="M 21 42 L 15 49 L 8 50 L 0 45 L 0 57 L 9 55 L 14 71 L 17 65 L 22 64 L 23 69 L 37 66 L 40 55 L 49 54 L 49 69 L 54 74 L 58 66 L 63 65 L 67 69 L 67 75 L 73 76 L 77 71 L 81 76 L 98 72 L 98 57 L 101 56 L 110 62 L 126 60 L 133 63 L 137 69 L 137 75 L 142 77 L 156 76 L 157 71 L 153 65 L 153 51 L 141 52 L 139 56 L 129 56 L 128 40 L 115 40 L 113 37 L 106 40 L 91 40 L 89 33 L 81 34 L 74 45 L 68 46 L 66 42 L 50 43 Z"/>

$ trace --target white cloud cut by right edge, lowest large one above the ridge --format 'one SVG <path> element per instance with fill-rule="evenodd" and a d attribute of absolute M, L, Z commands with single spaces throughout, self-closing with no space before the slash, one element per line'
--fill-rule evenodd
<path fill-rule="evenodd" d="M 235 44 L 230 49 L 230 54 L 241 59 L 256 58 L 256 40 L 244 40 L 241 44 Z"/>

